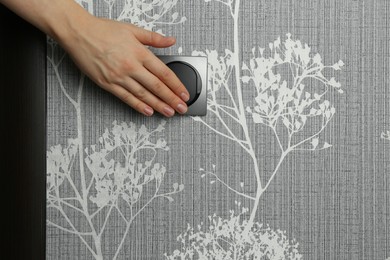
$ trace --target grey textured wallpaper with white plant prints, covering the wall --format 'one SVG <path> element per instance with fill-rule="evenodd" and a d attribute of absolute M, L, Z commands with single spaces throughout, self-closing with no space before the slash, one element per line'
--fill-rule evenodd
<path fill-rule="evenodd" d="M 79 0 L 207 56 L 146 118 L 48 40 L 47 259 L 390 258 L 390 1 Z"/>

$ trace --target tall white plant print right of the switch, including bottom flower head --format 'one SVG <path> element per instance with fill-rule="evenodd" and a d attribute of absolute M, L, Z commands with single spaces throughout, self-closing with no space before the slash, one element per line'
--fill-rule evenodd
<path fill-rule="evenodd" d="M 319 151 L 331 147 L 327 142 L 320 141 L 321 133 L 335 114 L 335 108 L 330 101 L 326 100 L 326 94 L 331 90 L 340 93 L 343 91 L 340 88 L 341 84 L 335 78 L 328 79 L 322 72 L 324 69 L 340 70 L 344 63 L 340 60 L 331 66 L 324 65 L 320 54 L 312 55 L 311 48 L 299 40 L 294 40 L 291 34 L 287 34 L 283 41 L 278 38 L 270 43 L 267 49 L 254 47 L 250 60 L 241 61 L 238 31 L 241 0 L 205 1 L 218 2 L 228 8 L 234 25 L 233 50 L 226 49 L 224 55 L 220 55 L 217 50 L 193 52 L 193 55 L 208 57 L 210 86 L 208 111 L 213 116 L 213 120 L 218 122 L 218 127 L 214 127 L 200 117 L 194 117 L 194 120 L 204 124 L 216 134 L 237 143 L 249 155 L 256 179 L 256 193 L 254 195 L 245 193 L 242 189 L 243 182 L 240 183 L 240 188 L 230 186 L 223 180 L 223 176 L 216 173 L 215 165 L 212 170 L 200 169 L 200 171 L 202 177 L 209 176 L 214 179 L 211 183 L 217 182 L 243 199 L 253 202 L 253 207 L 248 212 L 249 219 L 240 222 L 242 230 L 234 233 L 239 237 L 229 238 L 229 240 L 243 239 L 247 243 L 252 243 L 255 248 L 260 242 L 253 239 L 254 234 L 257 234 L 259 238 L 262 237 L 262 231 L 258 228 L 261 224 L 255 222 L 260 198 L 280 171 L 285 158 L 294 151 Z M 282 68 L 290 71 L 292 80 L 283 79 L 282 75 L 278 74 L 278 69 Z M 311 84 L 312 81 L 319 83 L 320 86 Z M 232 82 L 234 83 L 231 84 Z M 248 98 L 244 97 L 243 87 L 253 90 L 254 106 L 244 104 Z M 227 97 L 228 101 L 221 103 L 219 97 L 224 97 L 222 100 L 226 100 Z M 279 147 L 278 162 L 268 179 L 264 179 L 263 175 L 266 174 L 263 174 L 259 167 L 255 153 L 256 143 L 249 134 L 250 123 L 271 129 L 273 138 Z M 308 125 L 311 127 L 305 127 Z M 211 217 L 210 221 L 213 218 Z M 224 221 L 229 223 L 232 219 L 234 219 L 233 216 Z M 229 229 L 231 227 L 222 225 L 220 228 Z M 277 233 L 274 234 L 276 237 L 278 237 Z M 202 240 L 210 236 L 212 239 L 207 240 L 207 243 Z M 234 243 L 229 242 L 229 244 L 223 240 L 214 239 L 214 237 L 214 231 L 211 228 L 206 231 L 200 229 L 194 231 L 189 228 L 178 238 L 182 244 L 181 250 L 176 250 L 166 257 L 168 259 L 214 259 L 213 257 L 218 255 L 221 258 L 215 259 L 301 258 L 298 253 L 294 256 L 288 255 L 282 246 L 279 250 L 285 254 L 280 257 L 272 254 L 262 255 L 254 249 L 244 250 L 245 253 L 237 254 Z M 263 241 L 263 243 L 267 242 Z M 295 243 L 290 246 L 296 250 Z M 206 251 L 207 257 L 202 258 L 206 255 Z"/>

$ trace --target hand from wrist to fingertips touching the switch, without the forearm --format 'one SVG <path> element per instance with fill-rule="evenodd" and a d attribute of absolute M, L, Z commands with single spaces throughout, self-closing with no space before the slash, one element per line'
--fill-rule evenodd
<path fill-rule="evenodd" d="M 63 46 L 90 79 L 148 116 L 153 110 L 168 117 L 187 111 L 188 91 L 144 46 L 169 47 L 174 38 L 96 17 L 80 27 Z"/>

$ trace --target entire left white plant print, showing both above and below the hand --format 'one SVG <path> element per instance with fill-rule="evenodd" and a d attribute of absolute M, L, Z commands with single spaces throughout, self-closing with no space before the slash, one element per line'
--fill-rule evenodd
<path fill-rule="evenodd" d="M 93 1 L 77 2 L 93 13 Z M 105 2 L 110 18 L 113 5 L 122 2 L 123 10 L 116 19 L 150 30 L 158 24 L 185 20 L 178 20 L 177 13 L 169 21 L 163 20 L 177 0 Z M 47 152 L 47 208 L 56 211 L 62 218 L 61 223 L 47 219 L 47 225 L 77 236 L 94 259 L 106 259 L 106 254 L 112 254 L 115 260 L 121 254 L 134 219 L 155 199 L 173 201 L 172 195 L 184 189 L 179 183 L 174 183 L 169 191 L 161 188 L 166 169 L 155 162 L 155 157 L 158 152 L 169 149 L 165 140 L 159 138 L 165 122 L 155 129 L 147 129 L 144 125 L 138 127 L 131 122 L 114 121 L 112 128 L 105 130 L 96 145 L 86 147 L 81 116 L 85 75 L 80 73 L 77 94 L 73 97 L 69 91 L 71 86 L 66 86 L 60 72 L 66 54 L 53 40 L 49 39 L 48 45 L 49 65 L 62 93 L 76 111 L 77 136 L 69 139 L 67 145 L 55 145 Z M 58 52 L 61 53 L 59 57 Z M 148 193 L 144 192 L 146 189 Z M 148 195 L 150 191 L 153 192 Z M 116 248 L 115 252 L 103 252 L 104 243 L 111 242 L 107 239 L 103 241 L 103 237 L 114 213 L 122 218 L 124 230 L 118 230 L 123 231 L 118 232 L 120 243 L 110 246 Z"/>

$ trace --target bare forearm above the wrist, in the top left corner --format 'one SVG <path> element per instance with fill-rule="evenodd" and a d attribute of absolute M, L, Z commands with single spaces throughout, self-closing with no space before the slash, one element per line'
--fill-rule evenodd
<path fill-rule="evenodd" d="M 0 0 L 52 38 L 67 42 L 91 15 L 73 0 Z"/>

